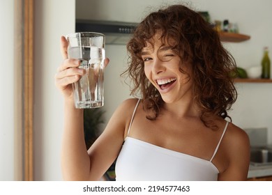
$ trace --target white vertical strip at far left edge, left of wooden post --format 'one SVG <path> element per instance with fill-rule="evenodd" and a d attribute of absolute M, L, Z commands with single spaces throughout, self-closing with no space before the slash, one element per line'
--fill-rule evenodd
<path fill-rule="evenodd" d="M 0 1 L 0 180 L 15 180 L 14 173 L 14 1 Z M 3 25 L 4 24 L 4 25 Z"/>

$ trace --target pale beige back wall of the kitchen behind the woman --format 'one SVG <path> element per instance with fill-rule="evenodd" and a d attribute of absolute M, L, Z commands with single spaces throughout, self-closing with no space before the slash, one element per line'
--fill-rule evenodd
<path fill-rule="evenodd" d="M 208 10 L 212 20 L 225 20 L 239 25 L 240 33 L 251 36 L 241 43 L 225 43 L 238 66 L 248 68 L 260 65 L 263 47 L 271 48 L 272 60 L 272 1 L 270 0 L 76 0 L 77 18 L 139 22 L 155 6 L 186 2 L 196 10 Z M 90 11 L 91 10 L 91 11 Z M 119 78 L 126 65 L 126 46 L 107 45 L 110 64 L 105 73 L 106 119 L 117 105 L 128 98 L 128 87 Z M 269 143 L 272 143 L 272 84 L 236 84 L 239 98 L 230 112 L 233 123 L 242 128 L 268 127 Z"/>

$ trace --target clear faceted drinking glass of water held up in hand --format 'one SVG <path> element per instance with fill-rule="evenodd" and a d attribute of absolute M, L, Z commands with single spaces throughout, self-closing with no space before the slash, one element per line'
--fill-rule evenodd
<path fill-rule="evenodd" d="M 78 109 L 97 108 L 104 105 L 104 60 L 105 35 L 81 32 L 66 36 L 68 57 L 80 59 L 80 67 L 86 72 L 73 83 L 75 107 Z"/>

